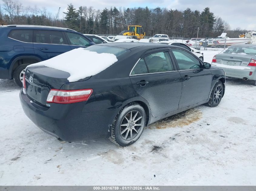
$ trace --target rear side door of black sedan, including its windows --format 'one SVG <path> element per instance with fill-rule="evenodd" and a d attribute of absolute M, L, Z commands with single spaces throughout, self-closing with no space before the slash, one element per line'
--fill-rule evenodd
<path fill-rule="evenodd" d="M 168 49 L 146 52 L 132 69 L 130 79 L 137 93 L 148 101 L 152 116 L 178 110 L 181 75 Z"/>

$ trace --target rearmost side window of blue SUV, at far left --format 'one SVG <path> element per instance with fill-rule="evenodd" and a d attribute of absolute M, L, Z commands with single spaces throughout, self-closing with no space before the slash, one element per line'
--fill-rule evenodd
<path fill-rule="evenodd" d="M 12 30 L 8 37 L 26 43 L 33 42 L 33 30 Z"/>

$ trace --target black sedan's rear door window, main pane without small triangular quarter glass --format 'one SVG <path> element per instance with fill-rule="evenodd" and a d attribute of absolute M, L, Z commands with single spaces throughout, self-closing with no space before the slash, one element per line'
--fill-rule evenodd
<path fill-rule="evenodd" d="M 173 71 L 173 65 L 168 52 L 154 53 L 145 57 L 149 73 Z"/>

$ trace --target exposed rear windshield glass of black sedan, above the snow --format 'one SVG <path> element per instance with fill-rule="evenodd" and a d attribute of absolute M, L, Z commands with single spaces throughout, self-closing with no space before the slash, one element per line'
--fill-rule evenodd
<path fill-rule="evenodd" d="M 85 50 L 90 50 L 99 54 L 110 53 L 110 54 L 114 54 L 117 58 L 129 51 L 128 49 L 119 48 L 119 47 L 97 46 L 97 45 L 89 46 L 85 48 Z"/>

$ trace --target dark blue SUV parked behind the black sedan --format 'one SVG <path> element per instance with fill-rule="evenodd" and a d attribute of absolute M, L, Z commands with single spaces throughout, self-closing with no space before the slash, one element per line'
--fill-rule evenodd
<path fill-rule="evenodd" d="M 14 79 L 20 87 L 28 65 L 95 44 L 75 30 L 34 25 L 2 26 L 0 42 L 0 79 Z"/>

